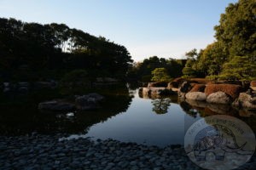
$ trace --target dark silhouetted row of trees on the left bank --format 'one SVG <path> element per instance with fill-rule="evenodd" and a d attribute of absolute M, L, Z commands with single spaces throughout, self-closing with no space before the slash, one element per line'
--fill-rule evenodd
<path fill-rule="evenodd" d="M 0 18 L 0 82 L 60 79 L 79 70 L 88 77 L 126 77 L 124 46 L 64 24 L 41 25 Z"/>

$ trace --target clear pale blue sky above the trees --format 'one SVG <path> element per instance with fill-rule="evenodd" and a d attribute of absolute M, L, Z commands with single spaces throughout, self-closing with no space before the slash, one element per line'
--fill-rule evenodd
<path fill-rule="evenodd" d="M 0 17 L 64 23 L 124 45 L 135 61 L 184 59 L 214 42 L 213 27 L 238 0 L 0 0 Z"/>

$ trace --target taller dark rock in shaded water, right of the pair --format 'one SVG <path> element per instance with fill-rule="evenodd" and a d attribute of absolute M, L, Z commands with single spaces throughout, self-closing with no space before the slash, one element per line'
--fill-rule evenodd
<path fill-rule="evenodd" d="M 76 96 L 75 103 L 78 110 L 95 110 L 100 107 L 99 102 L 102 101 L 102 99 L 104 99 L 104 97 L 100 94 L 87 94 Z"/>

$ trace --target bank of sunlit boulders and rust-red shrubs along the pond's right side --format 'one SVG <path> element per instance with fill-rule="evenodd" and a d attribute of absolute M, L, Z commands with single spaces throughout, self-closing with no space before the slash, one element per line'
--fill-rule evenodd
<path fill-rule="evenodd" d="M 195 81 L 196 80 L 196 81 Z M 209 82 L 206 79 L 186 80 L 177 78 L 173 82 L 149 82 L 140 88 L 143 98 L 159 98 L 177 94 L 182 100 L 202 101 L 207 104 L 233 105 L 239 109 L 256 109 L 256 82 Z"/>

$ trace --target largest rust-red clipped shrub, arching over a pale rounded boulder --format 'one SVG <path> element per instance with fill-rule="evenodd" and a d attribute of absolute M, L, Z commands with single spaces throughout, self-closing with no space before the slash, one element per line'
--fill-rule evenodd
<path fill-rule="evenodd" d="M 208 84 L 205 88 L 205 93 L 208 95 L 223 92 L 224 94 L 230 95 L 230 97 L 235 100 L 241 93 L 241 86 L 234 84 Z"/>

